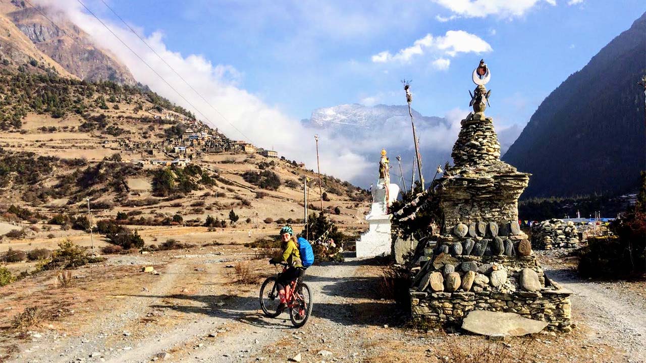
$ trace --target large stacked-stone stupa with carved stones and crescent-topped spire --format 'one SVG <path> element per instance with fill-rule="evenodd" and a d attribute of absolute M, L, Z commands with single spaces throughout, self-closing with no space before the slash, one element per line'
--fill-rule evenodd
<path fill-rule="evenodd" d="M 484 114 L 491 92 L 483 61 L 472 78 L 474 112 L 461 121 L 453 167 L 398 211 L 405 220 L 432 205 L 440 216 L 435 233 L 413 256 L 419 264 L 412 268 L 413 318 L 459 324 L 470 311 L 500 311 L 569 331 L 570 291 L 545 276 L 517 222 L 518 198 L 530 174 L 500 160 L 492 118 Z"/>

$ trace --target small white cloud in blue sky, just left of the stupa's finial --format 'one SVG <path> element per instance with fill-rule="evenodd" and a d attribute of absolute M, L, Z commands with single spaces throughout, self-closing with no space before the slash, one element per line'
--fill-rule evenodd
<path fill-rule="evenodd" d="M 371 59 L 374 63 L 410 63 L 414 57 L 426 53 L 455 57 L 458 53 L 486 53 L 492 50 L 489 43 L 474 34 L 464 30 L 449 30 L 444 36 L 439 37 L 426 34 L 413 42 L 411 47 L 400 49 L 394 56 L 388 50 L 384 50 L 372 56 Z M 442 61 L 446 67 L 449 64 L 447 61 L 448 59 Z"/>

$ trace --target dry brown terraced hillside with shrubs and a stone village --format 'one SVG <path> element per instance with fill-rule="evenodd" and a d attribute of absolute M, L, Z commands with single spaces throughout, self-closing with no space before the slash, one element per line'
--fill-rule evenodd
<path fill-rule="evenodd" d="M 304 176 L 320 209 L 313 171 L 260 156 L 150 90 L 20 69 L 0 63 L 0 214 L 12 204 L 23 219 L 79 214 L 89 198 L 101 218 L 129 213 L 140 225 L 200 225 L 232 210 L 285 223 L 303 216 Z M 322 189 L 337 222 L 362 222 L 366 191 L 331 176 Z"/>

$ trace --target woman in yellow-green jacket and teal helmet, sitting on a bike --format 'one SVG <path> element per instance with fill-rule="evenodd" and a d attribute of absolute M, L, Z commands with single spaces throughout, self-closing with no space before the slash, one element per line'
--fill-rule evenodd
<path fill-rule="evenodd" d="M 298 240 L 294 235 L 294 231 L 286 225 L 280 229 L 280 240 L 282 244 L 280 247 L 283 250 L 282 256 L 278 256 L 269 260 L 269 264 L 279 264 L 283 262 L 289 267 L 284 273 L 278 275 L 276 285 L 278 286 L 278 296 L 280 297 L 280 305 L 277 311 L 283 311 L 287 306 L 287 295 L 289 294 L 289 285 L 294 280 L 297 280 L 304 273 L 305 269 L 300 260 L 300 251 L 298 251 Z"/>

